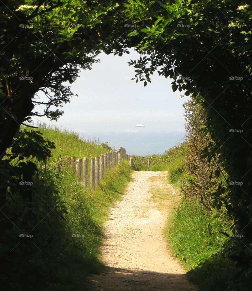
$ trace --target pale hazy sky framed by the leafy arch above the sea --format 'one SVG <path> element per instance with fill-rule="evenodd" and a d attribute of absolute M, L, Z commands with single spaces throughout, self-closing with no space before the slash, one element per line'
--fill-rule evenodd
<path fill-rule="evenodd" d="M 173 92 L 170 79 L 157 73 L 151 77 L 152 83 L 146 87 L 143 82 L 136 84 L 134 68 L 127 62 L 139 55 L 133 50 L 122 57 L 100 54 L 100 63 L 92 70 L 83 70 L 72 84 L 73 97 L 70 104 L 64 104 L 65 112 L 58 125 L 88 122 L 139 123 L 152 121 L 182 121 L 181 93 Z M 48 118 L 40 118 L 50 123 Z"/>

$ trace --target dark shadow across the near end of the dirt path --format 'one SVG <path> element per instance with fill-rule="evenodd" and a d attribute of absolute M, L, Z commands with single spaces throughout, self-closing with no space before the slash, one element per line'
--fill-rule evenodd
<path fill-rule="evenodd" d="M 142 269 L 107 268 L 89 279 L 87 291 L 196 291 L 186 274 L 159 273 Z"/>

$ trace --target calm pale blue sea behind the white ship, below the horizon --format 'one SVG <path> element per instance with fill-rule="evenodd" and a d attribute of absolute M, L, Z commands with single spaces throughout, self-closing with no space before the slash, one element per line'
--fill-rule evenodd
<path fill-rule="evenodd" d="M 145 122 L 145 127 L 135 127 L 138 123 L 71 123 L 71 126 L 63 126 L 74 129 L 85 139 L 108 141 L 112 148 L 123 147 L 129 155 L 163 153 L 182 142 L 185 135 L 182 121 Z"/>

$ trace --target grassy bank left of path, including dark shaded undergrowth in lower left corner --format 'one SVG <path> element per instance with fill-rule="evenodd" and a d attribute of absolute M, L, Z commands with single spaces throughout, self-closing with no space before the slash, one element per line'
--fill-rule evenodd
<path fill-rule="evenodd" d="M 58 151 L 63 156 L 90 157 L 104 152 L 104 148 L 80 140 L 74 133 L 68 136 L 66 131 L 47 128 L 49 139 L 50 134 L 59 146 L 54 154 Z M 105 173 L 99 187 L 91 190 L 76 183 L 68 165 L 55 171 L 57 160 L 58 156 L 46 161 L 33 158 L 37 166 L 31 188 L 33 199 L 18 203 L 16 193 L 10 200 L 14 203 L 7 203 L 8 208 L 3 209 L 10 218 L 1 221 L 3 290 L 83 289 L 88 273 L 104 267 L 98 259 L 102 224 L 109 207 L 122 198 L 132 170 L 128 162 L 122 161 Z M 15 213 L 10 216 L 13 205 Z"/>

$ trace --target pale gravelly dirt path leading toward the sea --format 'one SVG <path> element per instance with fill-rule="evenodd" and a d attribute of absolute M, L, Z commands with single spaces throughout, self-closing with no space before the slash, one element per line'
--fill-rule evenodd
<path fill-rule="evenodd" d="M 133 173 L 134 181 L 129 183 L 124 199 L 111 208 L 104 226 L 102 260 L 109 268 L 91 276 L 88 290 L 198 290 L 167 251 L 163 237 L 166 215 L 179 199 L 165 182 L 166 176 L 166 171 Z M 166 212 L 153 202 L 153 191 L 159 189 L 170 197 Z"/>

